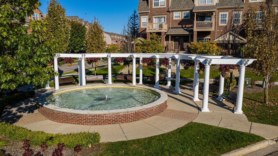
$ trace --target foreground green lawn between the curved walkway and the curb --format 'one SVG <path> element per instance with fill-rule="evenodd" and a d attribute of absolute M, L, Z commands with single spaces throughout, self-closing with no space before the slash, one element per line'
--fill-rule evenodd
<path fill-rule="evenodd" d="M 162 135 L 102 143 L 95 155 L 220 155 L 262 140 L 254 134 L 191 122 Z"/>

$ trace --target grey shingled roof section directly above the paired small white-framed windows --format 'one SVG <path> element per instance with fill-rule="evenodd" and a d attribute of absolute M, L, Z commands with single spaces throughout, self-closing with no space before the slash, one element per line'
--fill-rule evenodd
<path fill-rule="evenodd" d="M 195 6 L 192 0 L 172 0 L 169 10 L 186 10 Z"/>

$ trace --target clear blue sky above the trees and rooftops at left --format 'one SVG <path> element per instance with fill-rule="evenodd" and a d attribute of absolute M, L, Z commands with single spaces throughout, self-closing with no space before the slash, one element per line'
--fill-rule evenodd
<path fill-rule="evenodd" d="M 40 0 L 40 10 L 46 14 L 47 2 Z M 139 0 L 60 0 L 66 8 L 67 16 L 79 16 L 84 21 L 91 22 L 94 16 L 99 19 L 104 31 L 120 34 L 123 25 L 127 23 L 134 9 L 137 10 Z M 85 14 L 87 13 L 87 14 Z"/>

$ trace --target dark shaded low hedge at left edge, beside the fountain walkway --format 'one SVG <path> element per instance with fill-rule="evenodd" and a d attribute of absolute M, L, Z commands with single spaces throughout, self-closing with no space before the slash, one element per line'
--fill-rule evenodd
<path fill-rule="evenodd" d="M 0 99 L 0 112 L 3 110 L 4 107 L 12 104 L 16 104 L 22 100 L 29 99 L 35 95 L 35 91 L 28 91 L 28 92 L 20 92 L 8 97 L 3 97 Z"/>

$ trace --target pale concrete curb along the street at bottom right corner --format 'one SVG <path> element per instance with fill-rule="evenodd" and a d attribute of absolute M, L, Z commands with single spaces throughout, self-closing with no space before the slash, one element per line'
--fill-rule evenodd
<path fill-rule="evenodd" d="M 261 142 L 257 142 L 251 145 L 248 145 L 246 147 L 238 148 L 236 150 L 233 150 L 231 152 L 222 154 L 221 156 L 239 156 L 244 155 L 250 152 L 253 152 L 255 150 L 259 150 L 261 148 L 264 148 L 265 146 L 269 146 L 272 144 L 275 144 L 276 142 L 274 140 L 263 140 Z"/>

